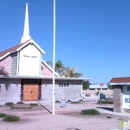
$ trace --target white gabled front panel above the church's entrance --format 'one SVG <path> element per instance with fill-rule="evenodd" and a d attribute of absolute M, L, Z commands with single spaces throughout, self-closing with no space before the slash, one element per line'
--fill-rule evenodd
<path fill-rule="evenodd" d="M 30 43 L 19 53 L 19 75 L 40 75 L 41 52 Z"/>

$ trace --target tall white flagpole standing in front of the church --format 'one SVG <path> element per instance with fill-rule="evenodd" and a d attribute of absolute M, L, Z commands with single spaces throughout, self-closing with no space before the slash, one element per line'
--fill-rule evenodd
<path fill-rule="evenodd" d="M 53 105 L 52 114 L 55 115 L 55 44 L 56 44 L 56 1 L 53 0 Z"/>

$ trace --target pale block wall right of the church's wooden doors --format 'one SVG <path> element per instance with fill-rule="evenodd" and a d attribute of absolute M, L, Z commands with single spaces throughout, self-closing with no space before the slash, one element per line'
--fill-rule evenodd
<path fill-rule="evenodd" d="M 67 83 L 69 84 L 67 86 Z M 63 86 L 62 86 L 63 84 Z M 42 85 L 42 100 L 52 101 L 52 81 L 43 81 Z M 55 100 L 62 99 L 79 101 L 81 100 L 81 82 L 77 81 L 56 81 L 55 85 Z"/>

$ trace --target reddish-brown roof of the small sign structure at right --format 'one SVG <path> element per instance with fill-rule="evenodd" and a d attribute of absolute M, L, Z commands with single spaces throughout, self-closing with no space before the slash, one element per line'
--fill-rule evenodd
<path fill-rule="evenodd" d="M 110 80 L 110 83 L 119 83 L 119 82 L 130 82 L 130 77 L 115 77 Z"/>

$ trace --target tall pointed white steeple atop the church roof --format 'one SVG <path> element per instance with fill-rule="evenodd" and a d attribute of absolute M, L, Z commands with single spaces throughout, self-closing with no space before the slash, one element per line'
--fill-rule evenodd
<path fill-rule="evenodd" d="M 23 30 L 23 36 L 21 38 L 21 43 L 23 43 L 29 39 L 31 39 L 31 36 L 29 34 L 28 3 L 26 3 L 24 30 Z"/>

